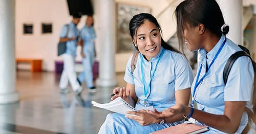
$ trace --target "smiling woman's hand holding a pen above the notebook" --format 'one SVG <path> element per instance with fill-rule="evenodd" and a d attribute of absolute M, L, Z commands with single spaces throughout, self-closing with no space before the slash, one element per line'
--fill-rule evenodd
<path fill-rule="evenodd" d="M 116 99 L 117 97 L 121 97 L 122 99 L 126 100 L 130 97 L 130 90 L 126 90 L 125 87 L 116 87 L 113 90 L 114 96 L 111 97 L 111 100 Z"/>

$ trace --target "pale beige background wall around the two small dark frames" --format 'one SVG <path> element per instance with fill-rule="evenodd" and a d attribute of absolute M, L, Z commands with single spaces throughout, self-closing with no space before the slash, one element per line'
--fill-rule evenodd
<path fill-rule="evenodd" d="M 116 0 L 118 3 L 127 3 L 134 5 L 147 6 L 152 8 L 153 15 L 158 15 L 170 2 L 169 0 Z M 66 0 L 16 0 L 16 21 L 15 21 L 15 39 L 16 39 L 16 57 L 18 58 L 41 58 L 43 60 L 43 69 L 54 71 L 54 61 L 62 60 L 57 57 L 57 42 L 59 33 L 63 24 L 70 23 L 72 17 L 69 16 L 69 10 Z M 97 14 L 95 14 L 97 15 Z M 97 18 L 97 16 L 95 16 Z M 78 28 L 84 25 L 85 17 L 81 18 Z M 51 34 L 41 34 L 41 23 L 52 23 Z M 33 34 L 23 34 L 23 24 L 33 24 Z M 95 30 L 100 31 L 95 19 Z M 99 50 L 100 44 L 96 39 L 96 50 Z M 81 60 L 79 55 L 80 48 L 77 51 L 77 60 Z M 97 51 L 98 53 L 98 51 Z M 125 65 L 132 53 L 116 54 L 116 72 L 125 70 Z"/>

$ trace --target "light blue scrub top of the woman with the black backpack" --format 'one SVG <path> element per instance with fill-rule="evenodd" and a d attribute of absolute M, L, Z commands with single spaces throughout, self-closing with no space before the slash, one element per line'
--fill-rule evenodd
<path fill-rule="evenodd" d="M 204 49 L 199 50 L 201 57 L 198 64 L 198 70 L 200 65 L 203 65 L 199 79 L 201 79 L 201 77 L 206 72 L 206 62 L 207 65 L 211 63 L 224 40 L 225 36 L 222 35 L 216 46 L 207 54 Z M 241 51 L 241 49 L 237 46 L 237 44 L 233 43 L 227 38 L 226 43 L 224 44 L 224 47 L 218 55 L 217 59 L 212 64 L 211 68 L 208 70 L 207 75 L 196 89 L 195 102 L 197 102 L 198 109 L 211 114 L 223 115 L 225 101 L 246 101 L 246 107 L 252 110 L 254 71 L 249 57 L 242 56 L 238 58 L 236 62 L 234 62 L 229 73 L 226 86 L 224 85 L 224 66 L 231 54 L 237 51 Z M 191 94 L 194 92 L 195 81 L 198 75 L 199 74 L 197 71 L 197 75 L 193 84 L 191 85 Z M 244 111 L 239 129 L 236 133 L 241 133 L 244 127 L 247 125 L 247 122 L 248 116 Z M 212 127 L 209 127 L 209 129 L 210 131 L 207 131 L 207 133 L 221 132 Z"/>

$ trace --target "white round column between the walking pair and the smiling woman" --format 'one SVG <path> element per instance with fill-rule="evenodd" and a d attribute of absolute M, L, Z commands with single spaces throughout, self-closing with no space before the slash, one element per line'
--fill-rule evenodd
<path fill-rule="evenodd" d="M 97 44 L 99 49 L 99 78 L 98 86 L 115 86 L 115 51 L 116 51 L 116 17 L 114 0 L 95 1 L 97 16 Z M 96 22 L 95 22 L 96 24 Z"/>

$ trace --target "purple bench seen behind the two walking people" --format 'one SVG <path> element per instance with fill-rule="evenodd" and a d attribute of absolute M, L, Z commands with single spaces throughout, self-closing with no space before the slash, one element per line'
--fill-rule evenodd
<path fill-rule="evenodd" d="M 76 64 L 82 64 L 82 61 L 76 61 Z M 55 74 L 61 74 L 63 70 L 63 61 L 55 61 Z M 98 78 L 99 75 L 99 62 L 95 61 L 93 64 L 93 79 Z"/>

